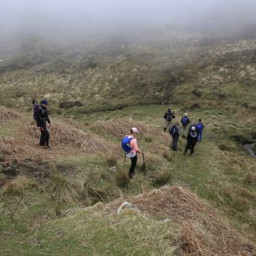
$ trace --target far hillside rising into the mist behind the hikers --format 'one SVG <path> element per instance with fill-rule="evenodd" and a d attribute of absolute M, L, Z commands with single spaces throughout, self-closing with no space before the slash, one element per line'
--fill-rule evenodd
<path fill-rule="evenodd" d="M 224 40 L 168 29 L 93 47 L 21 39 L 13 53 L 1 48 L 0 102 L 27 109 L 45 97 L 56 113 L 85 114 L 167 103 L 177 85 L 191 85 L 197 95 L 255 108 L 248 97 L 255 96 L 256 42 Z"/>

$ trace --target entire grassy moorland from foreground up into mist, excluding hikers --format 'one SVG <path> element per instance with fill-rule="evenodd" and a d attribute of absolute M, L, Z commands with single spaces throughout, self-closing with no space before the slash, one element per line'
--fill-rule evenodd
<path fill-rule="evenodd" d="M 1 49 L 0 254 L 256 255 L 256 159 L 243 149 L 256 141 L 255 49 L 188 33 Z M 30 125 L 42 97 L 48 150 Z M 203 119 L 193 156 L 184 139 L 171 151 L 168 106 Z M 133 126 L 146 168 L 139 156 L 129 180 L 120 140 Z M 116 215 L 124 201 L 139 210 Z"/>

